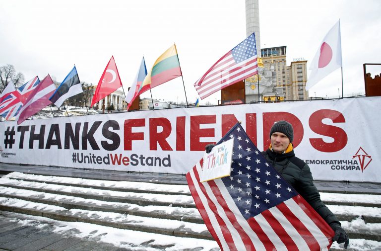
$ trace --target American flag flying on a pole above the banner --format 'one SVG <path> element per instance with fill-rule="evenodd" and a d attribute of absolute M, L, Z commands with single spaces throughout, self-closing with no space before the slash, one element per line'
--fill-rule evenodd
<path fill-rule="evenodd" d="M 201 99 L 257 74 L 254 33 L 220 58 L 196 83 Z"/>

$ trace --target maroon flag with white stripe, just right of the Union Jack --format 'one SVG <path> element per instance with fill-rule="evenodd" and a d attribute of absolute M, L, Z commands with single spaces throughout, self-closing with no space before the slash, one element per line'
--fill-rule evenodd
<path fill-rule="evenodd" d="M 45 77 L 38 84 L 32 93 L 25 100 L 25 103 L 20 109 L 20 112 L 17 115 L 17 125 L 21 124 L 27 118 L 33 116 L 37 112 L 39 112 L 44 107 L 50 105 L 52 102 L 49 98 L 52 96 L 54 91 L 56 90 L 56 86 L 50 75 Z"/>

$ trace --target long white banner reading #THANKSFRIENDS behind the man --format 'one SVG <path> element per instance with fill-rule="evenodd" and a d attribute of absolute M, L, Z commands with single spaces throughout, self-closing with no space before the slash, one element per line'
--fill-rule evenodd
<path fill-rule="evenodd" d="M 1 162 L 186 173 L 237 120 L 259 150 L 287 120 L 315 179 L 381 182 L 380 107 L 362 97 L 0 122 Z"/>

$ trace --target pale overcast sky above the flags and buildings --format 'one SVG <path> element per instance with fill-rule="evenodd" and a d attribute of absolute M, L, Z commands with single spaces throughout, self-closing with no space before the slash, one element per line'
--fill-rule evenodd
<path fill-rule="evenodd" d="M 246 38 L 244 0 L 0 0 L 0 10 L 0 66 L 14 65 L 25 81 L 49 73 L 62 82 L 75 64 L 81 81 L 98 84 L 113 55 L 127 93 L 142 55 L 149 70 L 176 43 L 189 103 L 198 97 L 193 83 Z M 363 64 L 381 63 L 380 10 L 380 0 L 259 0 L 261 48 L 286 45 L 287 65 L 305 58 L 309 67 L 340 18 L 344 96 L 364 94 Z M 341 95 L 341 71 L 315 92 Z M 152 94 L 185 101 L 182 78 Z M 201 103 L 218 99 L 220 92 Z"/>

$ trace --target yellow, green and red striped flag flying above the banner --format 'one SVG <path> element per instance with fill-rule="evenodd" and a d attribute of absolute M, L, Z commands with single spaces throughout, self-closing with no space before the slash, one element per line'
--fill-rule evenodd
<path fill-rule="evenodd" d="M 164 84 L 182 76 L 176 45 L 173 44 L 153 64 L 151 71 L 145 77 L 139 95 L 146 90 Z"/>

